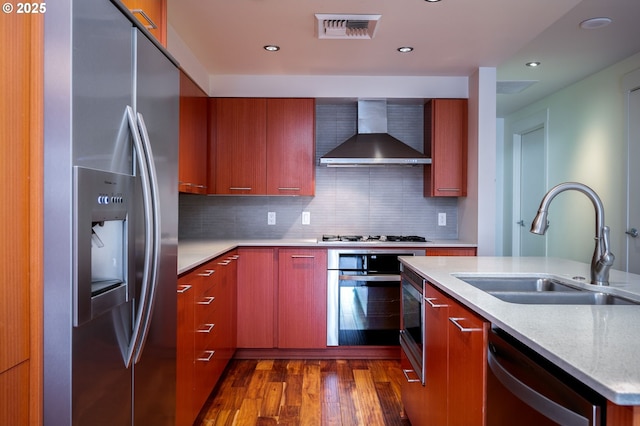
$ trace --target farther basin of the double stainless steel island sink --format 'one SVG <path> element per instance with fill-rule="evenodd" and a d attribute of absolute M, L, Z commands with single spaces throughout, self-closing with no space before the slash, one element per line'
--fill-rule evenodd
<path fill-rule="evenodd" d="M 572 287 L 555 278 L 537 276 L 501 276 L 501 277 L 458 277 L 486 292 L 517 291 L 517 292 L 576 292 L 584 289 Z"/>

